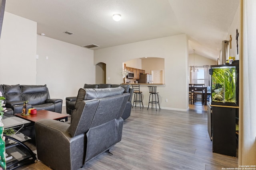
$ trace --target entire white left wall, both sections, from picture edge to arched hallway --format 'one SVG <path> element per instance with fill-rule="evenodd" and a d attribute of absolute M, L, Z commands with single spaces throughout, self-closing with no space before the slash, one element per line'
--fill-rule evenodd
<path fill-rule="evenodd" d="M 51 98 L 65 106 L 65 98 L 76 96 L 84 83 L 95 83 L 94 51 L 37 35 L 36 24 L 5 12 L 0 84 L 47 84 Z"/>

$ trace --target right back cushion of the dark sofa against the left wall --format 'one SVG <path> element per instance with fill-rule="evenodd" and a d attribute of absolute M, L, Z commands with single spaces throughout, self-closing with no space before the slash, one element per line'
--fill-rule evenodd
<path fill-rule="evenodd" d="M 44 104 L 49 98 L 48 89 L 45 85 L 20 85 L 22 91 L 22 98 L 24 101 L 28 100 L 29 104 L 39 105 Z"/>

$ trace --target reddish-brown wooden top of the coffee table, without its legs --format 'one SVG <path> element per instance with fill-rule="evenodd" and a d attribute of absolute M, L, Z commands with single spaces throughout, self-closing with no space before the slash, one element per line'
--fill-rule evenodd
<path fill-rule="evenodd" d="M 53 111 L 48 111 L 48 110 L 38 110 L 35 115 L 21 115 L 21 113 L 15 114 L 17 117 L 20 117 L 22 119 L 31 121 L 35 123 L 36 121 L 40 119 L 54 119 L 54 120 L 62 120 L 65 119 L 65 121 L 68 121 L 68 115 L 69 114 L 61 114 L 61 113 L 56 113 Z"/>

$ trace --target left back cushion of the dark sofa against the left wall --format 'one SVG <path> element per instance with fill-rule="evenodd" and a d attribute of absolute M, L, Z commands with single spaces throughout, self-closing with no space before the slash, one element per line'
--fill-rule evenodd
<path fill-rule="evenodd" d="M 16 85 L 3 85 L 6 102 L 22 101 L 20 84 Z"/>

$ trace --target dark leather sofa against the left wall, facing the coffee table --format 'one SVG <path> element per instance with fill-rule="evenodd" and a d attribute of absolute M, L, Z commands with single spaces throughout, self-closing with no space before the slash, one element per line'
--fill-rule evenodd
<path fill-rule="evenodd" d="M 6 98 L 6 113 L 14 115 L 22 113 L 24 101 L 28 102 L 28 108 L 49 110 L 57 113 L 62 111 L 62 99 L 50 99 L 48 88 L 45 85 L 0 85 L 0 91 Z"/>

